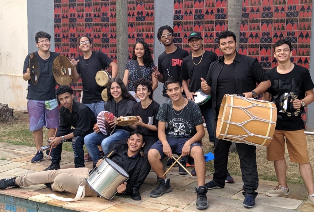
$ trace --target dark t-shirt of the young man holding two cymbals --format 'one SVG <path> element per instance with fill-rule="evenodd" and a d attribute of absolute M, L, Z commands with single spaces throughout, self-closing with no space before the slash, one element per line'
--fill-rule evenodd
<path fill-rule="evenodd" d="M 59 53 L 50 52 L 50 57 L 43 60 L 38 51 L 34 52 L 37 56 L 39 63 L 39 78 L 36 85 L 31 80 L 28 80 L 27 99 L 46 101 L 56 98 L 56 80 L 52 74 L 52 64 L 54 59 L 59 56 Z M 30 53 L 31 54 L 31 53 Z M 30 54 L 28 54 L 24 61 L 23 74 L 26 73 L 26 69 L 30 67 Z"/>

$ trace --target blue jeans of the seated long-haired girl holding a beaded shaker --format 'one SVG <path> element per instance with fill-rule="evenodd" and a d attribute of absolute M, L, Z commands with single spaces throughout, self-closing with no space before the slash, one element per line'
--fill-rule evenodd
<path fill-rule="evenodd" d="M 106 153 L 112 143 L 125 139 L 129 136 L 130 132 L 124 129 L 116 129 L 111 135 L 104 135 L 101 132 L 93 132 L 85 136 L 84 143 L 93 162 L 97 162 L 101 158 L 100 151 L 97 146 L 101 145 L 102 151 Z"/>

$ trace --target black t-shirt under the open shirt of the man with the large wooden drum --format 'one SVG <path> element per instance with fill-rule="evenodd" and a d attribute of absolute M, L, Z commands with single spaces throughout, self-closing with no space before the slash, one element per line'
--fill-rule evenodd
<path fill-rule="evenodd" d="M 224 64 L 224 67 L 218 76 L 216 114 L 219 114 L 220 104 L 225 94 L 236 94 L 236 79 L 235 72 L 233 70 L 233 63 L 229 65 Z"/>

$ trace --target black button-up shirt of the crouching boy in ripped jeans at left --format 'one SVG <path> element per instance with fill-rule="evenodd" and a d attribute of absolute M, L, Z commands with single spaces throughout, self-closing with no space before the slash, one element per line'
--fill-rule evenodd
<path fill-rule="evenodd" d="M 73 101 L 72 113 L 63 106 L 59 113 L 60 125 L 57 131 L 59 136 L 67 135 L 72 126 L 75 127 L 74 137 L 85 136 L 94 132 L 93 127 L 97 122 L 96 116 L 85 104 Z"/>

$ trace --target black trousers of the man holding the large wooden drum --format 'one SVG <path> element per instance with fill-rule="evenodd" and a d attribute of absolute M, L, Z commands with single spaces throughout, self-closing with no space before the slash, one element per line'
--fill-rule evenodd
<path fill-rule="evenodd" d="M 217 119 L 213 121 L 213 130 L 216 134 Z M 227 140 L 221 140 L 214 138 L 214 177 L 213 180 L 220 186 L 225 187 L 225 179 L 227 177 L 227 165 L 228 165 L 228 156 L 229 148 L 231 142 Z M 243 185 L 243 195 L 252 195 L 257 196 L 255 191 L 258 188 L 258 174 L 257 174 L 257 165 L 256 165 L 256 146 L 247 145 L 245 143 L 236 143 L 236 149 L 238 151 L 240 166 L 242 172 L 242 181 Z"/>

